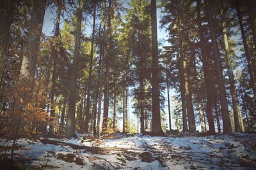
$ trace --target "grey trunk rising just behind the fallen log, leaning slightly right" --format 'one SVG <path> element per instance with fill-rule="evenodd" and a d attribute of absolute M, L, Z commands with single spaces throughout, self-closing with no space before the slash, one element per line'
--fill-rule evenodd
<path fill-rule="evenodd" d="M 75 52 L 74 62 L 72 64 L 72 76 L 70 77 L 70 96 L 68 103 L 68 115 L 67 115 L 67 130 L 66 138 L 76 137 L 76 87 L 77 87 L 77 67 L 78 58 L 80 53 L 80 39 L 81 39 L 81 25 L 82 25 L 82 14 L 83 14 L 83 0 L 79 0 L 79 7 L 77 9 L 77 24 L 76 24 L 76 41 L 75 41 Z"/>

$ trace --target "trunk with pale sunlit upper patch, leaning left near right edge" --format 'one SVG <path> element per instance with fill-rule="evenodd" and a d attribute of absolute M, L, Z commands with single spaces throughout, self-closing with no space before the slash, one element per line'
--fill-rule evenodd
<path fill-rule="evenodd" d="M 221 15 L 223 15 L 223 11 L 221 11 Z M 228 46 L 228 36 L 227 36 L 227 29 L 225 18 L 223 17 L 222 20 L 222 31 L 223 31 L 223 39 L 224 39 L 224 47 L 225 47 L 225 59 L 226 59 L 226 66 L 228 69 L 228 78 L 230 84 L 230 92 L 231 92 L 231 99 L 232 99 L 232 108 L 234 113 L 234 122 L 235 122 L 235 132 L 241 132 L 241 128 L 239 125 L 239 117 L 237 111 L 237 99 L 236 99 L 236 81 L 234 80 L 234 74 L 232 71 L 232 66 L 230 62 L 230 53 L 229 53 L 229 46 Z"/>

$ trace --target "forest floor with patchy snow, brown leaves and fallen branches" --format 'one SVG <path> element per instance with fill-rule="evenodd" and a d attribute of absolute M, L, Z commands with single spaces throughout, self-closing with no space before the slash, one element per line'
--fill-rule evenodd
<path fill-rule="evenodd" d="M 19 139 L 8 165 L 11 143 L 0 139 L 0 169 L 256 169 L 255 133 Z"/>

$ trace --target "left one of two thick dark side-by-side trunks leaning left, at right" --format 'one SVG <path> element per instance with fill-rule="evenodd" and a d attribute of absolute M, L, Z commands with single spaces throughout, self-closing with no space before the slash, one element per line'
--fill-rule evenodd
<path fill-rule="evenodd" d="M 197 22 L 198 22 L 198 33 L 200 37 L 200 48 L 202 51 L 202 62 L 203 62 L 203 71 L 204 71 L 204 79 L 205 79 L 205 87 L 206 87 L 206 95 L 207 95 L 207 106 L 206 106 L 206 115 L 209 125 L 209 133 L 215 133 L 214 121 L 212 117 L 212 93 L 210 88 L 210 77 L 209 77 L 209 69 L 207 62 L 207 55 L 205 51 L 205 39 L 202 30 L 202 19 L 201 19 L 201 10 L 200 10 L 200 0 L 196 0 L 196 11 L 197 11 Z M 205 129 L 206 131 L 206 129 Z"/>

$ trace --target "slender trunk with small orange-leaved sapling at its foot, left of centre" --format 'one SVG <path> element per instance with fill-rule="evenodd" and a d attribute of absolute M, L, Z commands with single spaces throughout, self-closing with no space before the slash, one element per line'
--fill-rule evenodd
<path fill-rule="evenodd" d="M 103 106 L 103 120 L 102 120 L 102 132 L 108 131 L 108 106 L 109 106 L 109 59 L 111 57 L 112 48 L 112 25 L 111 19 L 113 18 L 113 9 L 111 6 L 112 0 L 109 0 L 108 7 L 108 42 L 107 42 L 107 55 L 105 59 L 105 78 L 104 78 L 104 106 Z"/>

